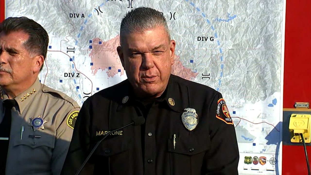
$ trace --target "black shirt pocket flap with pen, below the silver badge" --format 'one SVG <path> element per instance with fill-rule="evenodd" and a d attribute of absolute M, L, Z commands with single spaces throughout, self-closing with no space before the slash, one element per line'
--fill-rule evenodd
<path fill-rule="evenodd" d="M 207 151 L 210 148 L 210 140 L 207 136 L 198 138 L 197 136 L 189 136 L 188 138 L 175 138 L 175 149 L 174 139 L 168 140 L 168 150 L 172 153 L 179 153 L 185 155 L 195 155 L 203 151 Z"/>

